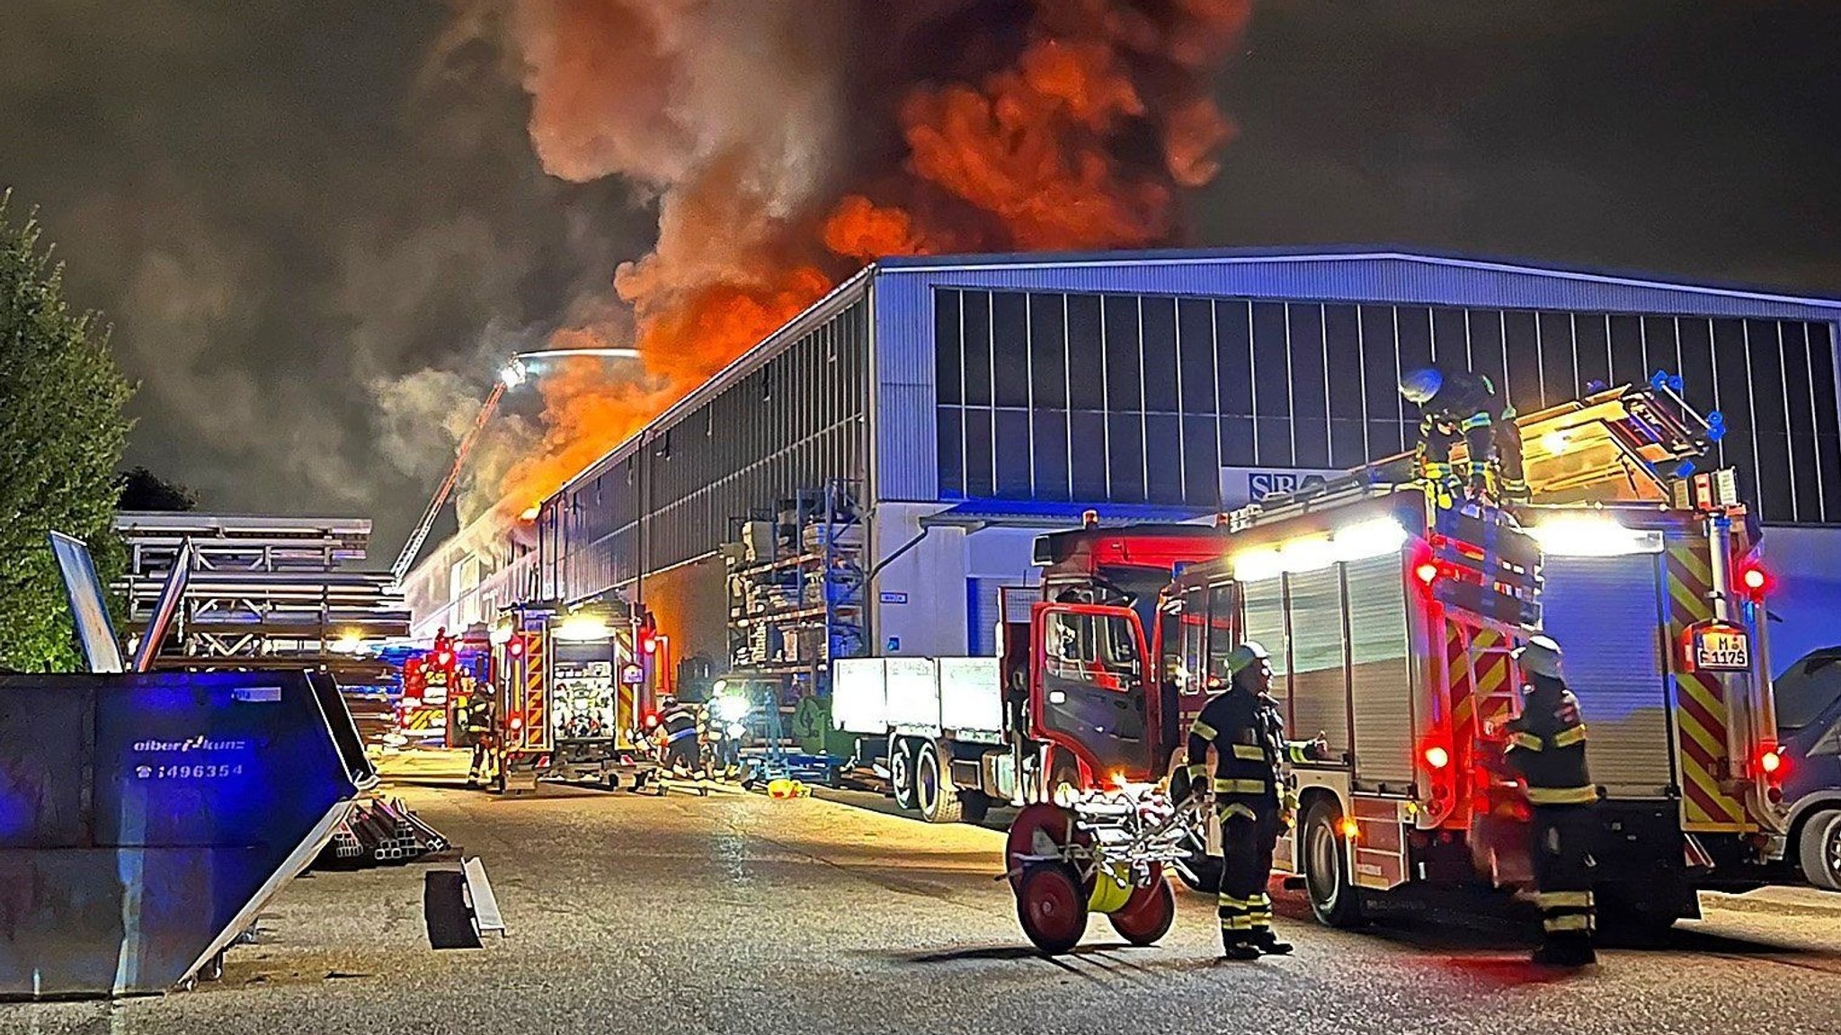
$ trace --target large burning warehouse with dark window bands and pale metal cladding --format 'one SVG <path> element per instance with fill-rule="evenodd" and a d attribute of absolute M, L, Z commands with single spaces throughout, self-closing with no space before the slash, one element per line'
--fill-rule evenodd
<path fill-rule="evenodd" d="M 641 599 L 720 665 L 718 545 L 841 479 L 880 565 L 871 643 L 985 650 L 1038 530 L 1088 506 L 1202 518 L 1397 453 L 1418 425 L 1399 372 L 1430 363 L 1523 411 L 1679 372 L 1731 429 L 1705 464 L 1738 470 L 1782 556 L 1841 565 L 1837 320 L 1823 298 L 1403 252 L 886 260 L 552 495 L 538 591 Z"/>

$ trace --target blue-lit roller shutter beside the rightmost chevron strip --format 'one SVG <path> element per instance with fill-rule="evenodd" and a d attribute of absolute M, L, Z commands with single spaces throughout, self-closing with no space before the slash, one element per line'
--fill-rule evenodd
<path fill-rule="evenodd" d="M 1675 785 L 1659 562 L 1548 554 L 1541 564 L 1541 626 L 1567 652 L 1585 761 L 1611 797 L 1664 797 Z"/>

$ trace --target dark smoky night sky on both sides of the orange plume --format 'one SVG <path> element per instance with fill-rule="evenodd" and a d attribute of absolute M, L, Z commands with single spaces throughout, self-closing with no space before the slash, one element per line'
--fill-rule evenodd
<path fill-rule="evenodd" d="M 431 57 L 451 22 L 434 2 L 7 6 L 0 184 L 116 326 L 142 381 L 131 462 L 208 508 L 370 514 L 387 554 L 442 438 L 377 387 L 490 368 L 646 249 L 628 186 L 541 173 L 499 53 Z M 1265 4 L 1221 81 L 1241 136 L 1191 243 L 1841 295 L 1837 29 L 1830 4 Z"/>

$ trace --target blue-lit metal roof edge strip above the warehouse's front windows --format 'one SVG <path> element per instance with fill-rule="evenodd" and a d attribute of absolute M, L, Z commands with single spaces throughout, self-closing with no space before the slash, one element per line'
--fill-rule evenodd
<path fill-rule="evenodd" d="M 1841 319 L 1841 300 L 1395 249 L 1184 249 L 889 258 L 880 278 L 1048 291 L 1151 291 L 1694 317 Z"/>

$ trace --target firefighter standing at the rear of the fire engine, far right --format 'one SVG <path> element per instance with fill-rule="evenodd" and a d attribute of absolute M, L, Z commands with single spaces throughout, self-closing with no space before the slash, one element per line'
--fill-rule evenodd
<path fill-rule="evenodd" d="M 1526 676 L 1521 716 L 1510 720 L 1504 761 L 1523 777 L 1534 810 L 1534 884 L 1541 906 L 1535 963 L 1583 967 L 1592 954 L 1592 832 L 1598 788 L 1585 768 L 1585 720 L 1567 689 L 1559 645 L 1535 635 L 1515 652 Z"/>

